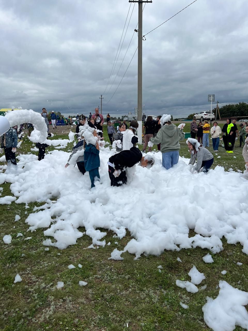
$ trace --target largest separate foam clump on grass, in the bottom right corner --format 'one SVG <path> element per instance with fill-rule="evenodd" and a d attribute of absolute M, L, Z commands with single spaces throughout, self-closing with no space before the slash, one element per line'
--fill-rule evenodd
<path fill-rule="evenodd" d="M 219 295 L 216 299 L 207 297 L 202 307 L 204 321 L 214 331 L 232 331 L 236 325 L 248 329 L 248 293 L 233 288 L 227 282 L 219 281 Z"/>

